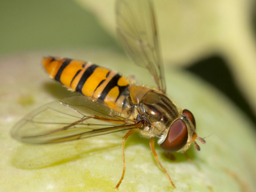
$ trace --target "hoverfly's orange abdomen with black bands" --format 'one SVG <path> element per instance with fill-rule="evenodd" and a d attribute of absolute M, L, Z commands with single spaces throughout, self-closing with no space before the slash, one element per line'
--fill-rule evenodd
<path fill-rule="evenodd" d="M 49 75 L 82 95 L 103 100 L 110 108 L 121 108 L 129 83 L 120 74 L 95 64 L 66 58 L 44 58 Z"/>

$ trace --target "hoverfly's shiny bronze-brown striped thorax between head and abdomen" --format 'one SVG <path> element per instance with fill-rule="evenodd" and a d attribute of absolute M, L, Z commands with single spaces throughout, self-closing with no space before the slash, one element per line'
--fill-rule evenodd
<path fill-rule="evenodd" d="M 138 111 L 138 118 L 148 124 L 140 131 L 146 138 L 160 137 L 179 116 L 175 104 L 163 93 L 144 86 L 133 86 L 130 96 Z"/>

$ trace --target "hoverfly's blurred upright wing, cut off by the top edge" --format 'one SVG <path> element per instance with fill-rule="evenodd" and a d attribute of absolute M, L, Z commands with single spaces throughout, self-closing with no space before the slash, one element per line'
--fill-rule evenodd
<path fill-rule="evenodd" d="M 165 93 L 163 63 L 157 40 L 156 19 L 150 0 L 117 0 L 116 28 L 131 60 L 149 70 L 159 90 Z"/>

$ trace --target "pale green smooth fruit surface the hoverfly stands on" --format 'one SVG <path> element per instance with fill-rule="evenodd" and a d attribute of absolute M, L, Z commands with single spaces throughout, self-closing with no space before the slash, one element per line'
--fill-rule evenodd
<path fill-rule="evenodd" d="M 122 174 L 124 132 L 58 145 L 26 145 L 11 138 L 10 129 L 26 113 L 77 94 L 47 77 L 40 66 L 45 54 L 31 52 L 0 62 L 0 191 L 115 191 Z M 87 49 L 52 54 L 90 58 L 127 76 L 133 74 L 139 82 L 150 81 L 147 70 L 131 65 L 116 52 Z M 195 76 L 172 68 L 166 68 L 165 74 L 168 95 L 193 111 L 198 136 L 210 136 L 200 145 L 200 152 L 194 146 L 188 150 L 193 163 L 177 153 L 176 161 L 171 161 L 156 147 L 177 186 L 173 189 L 150 153 L 149 141 L 132 135 L 125 147 L 127 171 L 119 191 L 253 191 L 256 142 L 250 121 Z"/>

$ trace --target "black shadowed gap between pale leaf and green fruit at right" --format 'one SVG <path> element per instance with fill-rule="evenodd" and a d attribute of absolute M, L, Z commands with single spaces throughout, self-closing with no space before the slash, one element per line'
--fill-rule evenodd
<path fill-rule="evenodd" d="M 244 98 L 241 90 L 234 83 L 234 78 L 227 63 L 221 56 L 211 56 L 204 60 L 197 61 L 186 68 L 196 76 L 211 83 L 221 92 L 225 93 L 246 115 L 252 120 L 256 127 L 256 117 L 250 104 Z"/>

